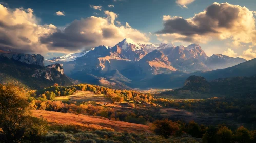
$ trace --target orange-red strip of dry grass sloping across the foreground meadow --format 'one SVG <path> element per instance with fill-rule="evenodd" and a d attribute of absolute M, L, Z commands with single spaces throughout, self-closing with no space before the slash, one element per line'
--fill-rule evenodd
<path fill-rule="evenodd" d="M 142 133 L 151 132 L 147 125 L 134 124 L 123 121 L 112 121 L 104 117 L 86 116 L 81 114 L 60 113 L 53 111 L 32 110 L 35 117 L 42 116 L 48 122 L 65 125 L 79 125 L 90 129 L 114 129 L 119 132 Z"/>

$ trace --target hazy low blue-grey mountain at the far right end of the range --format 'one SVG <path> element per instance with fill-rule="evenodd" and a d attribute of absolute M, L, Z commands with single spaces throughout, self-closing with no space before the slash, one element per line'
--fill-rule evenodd
<path fill-rule="evenodd" d="M 239 57 L 233 58 L 222 54 L 213 54 L 205 61 L 205 64 L 211 69 L 222 69 L 238 65 L 246 61 L 247 60 Z"/>

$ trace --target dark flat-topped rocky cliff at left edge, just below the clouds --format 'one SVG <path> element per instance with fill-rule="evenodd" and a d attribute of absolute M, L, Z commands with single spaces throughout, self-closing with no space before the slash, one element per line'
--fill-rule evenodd
<path fill-rule="evenodd" d="M 44 57 L 40 54 L 23 54 L 23 53 L 13 53 L 13 52 L 4 52 L 0 53 L 0 57 L 6 57 L 8 59 L 17 60 L 22 63 L 32 64 L 37 66 L 45 66 Z"/>

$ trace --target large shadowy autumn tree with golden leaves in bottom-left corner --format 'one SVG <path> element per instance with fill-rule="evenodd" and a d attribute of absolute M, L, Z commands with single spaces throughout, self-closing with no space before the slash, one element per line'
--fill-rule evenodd
<path fill-rule="evenodd" d="M 29 116 L 28 96 L 27 92 L 22 91 L 15 85 L 5 86 L 0 84 L 1 142 L 25 142 L 24 138 L 29 140 L 31 132 L 33 132 L 33 136 L 40 136 L 38 132 L 43 135 L 43 131 L 35 128 L 34 120 Z M 34 103 L 31 104 L 35 108 L 34 105 Z M 43 130 L 46 132 L 46 129 Z"/>

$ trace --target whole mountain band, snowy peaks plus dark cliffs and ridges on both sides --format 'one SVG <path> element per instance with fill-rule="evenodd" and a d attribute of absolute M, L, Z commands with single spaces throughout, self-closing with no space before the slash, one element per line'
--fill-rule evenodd
<path fill-rule="evenodd" d="M 256 63 L 221 54 L 208 57 L 198 44 L 140 44 L 129 38 L 113 47 L 101 45 L 48 60 L 40 54 L 12 51 L 0 51 L 0 58 L 4 65 L 0 69 L 2 82 L 11 80 L 27 85 L 38 81 L 32 84 L 33 88 L 73 82 L 117 89 L 180 88 L 191 75 L 207 80 L 253 76 L 251 68 Z"/>

